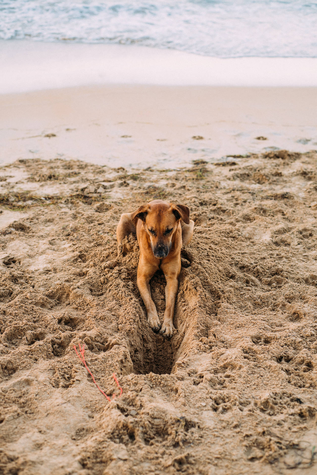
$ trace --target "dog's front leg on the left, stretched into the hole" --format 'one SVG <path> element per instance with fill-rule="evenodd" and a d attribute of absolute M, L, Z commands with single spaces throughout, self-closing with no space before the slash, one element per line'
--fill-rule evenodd
<path fill-rule="evenodd" d="M 157 269 L 157 266 L 145 263 L 142 258 L 140 258 L 137 270 L 137 286 L 146 308 L 147 321 L 152 330 L 156 331 L 161 328 L 161 322 L 151 297 L 150 280 Z"/>

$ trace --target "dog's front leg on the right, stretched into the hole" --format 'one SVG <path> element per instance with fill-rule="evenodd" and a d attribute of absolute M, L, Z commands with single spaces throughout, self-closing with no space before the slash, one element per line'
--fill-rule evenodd
<path fill-rule="evenodd" d="M 179 257 L 176 262 L 173 260 L 172 262 L 161 265 L 161 269 L 163 270 L 166 278 L 166 287 L 165 312 L 160 333 L 168 338 L 171 338 L 173 335 L 173 330 L 175 330 L 173 325 L 173 316 L 175 299 L 178 290 L 178 276 L 181 270 L 181 258 Z"/>

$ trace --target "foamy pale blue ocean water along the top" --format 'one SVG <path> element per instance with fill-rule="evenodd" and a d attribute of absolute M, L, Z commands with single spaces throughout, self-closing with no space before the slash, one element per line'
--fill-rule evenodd
<path fill-rule="evenodd" d="M 317 2 L 0 0 L 0 38 L 140 44 L 211 57 L 317 57 Z"/>

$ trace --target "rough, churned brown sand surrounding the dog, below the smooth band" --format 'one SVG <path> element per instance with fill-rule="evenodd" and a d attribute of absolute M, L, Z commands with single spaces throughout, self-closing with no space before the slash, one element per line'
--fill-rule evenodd
<path fill-rule="evenodd" d="M 0 472 L 315 473 L 316 159 L 2 167 Z M 155 198 L 195 221 L 170 341 L 146 322 L 135 236 L 115 240 L 120 214 Z M 157 273 L 161 318 L 164 287 Z"/>

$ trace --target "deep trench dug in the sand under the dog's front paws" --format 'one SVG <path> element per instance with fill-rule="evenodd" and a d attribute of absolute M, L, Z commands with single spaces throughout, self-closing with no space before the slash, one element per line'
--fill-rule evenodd
<path fill-rule="evenodd" d="M 130 244 L 133 238 L 129 238 Z M 135 251 L 136 249 L 134 249 Z M 130 268 L 130 262 L 138 258 L 137 254 L 130 252 L 124 255 L 122 259 L 122 267 L 118 266 L 127 273 L 127 280 L 133 281 L 136 276 L 135 269 Z M 159 333 L 154 333 L 146 321 L 146 310 L 140 296 L 137 296 L 138 304 L 135 301 L 129 303 L 128 312 L 131 307 L 137 309 L 137 317 L 134 320 L 134 332 L 129 333 L 128 346 L 130 357 L 133 363 L 134 374 L 172 374 L 174 367 L 185 357 L 188 349 L 192 344 L 199 343 L 199 339 L 205 337 L 209 343 L 208 328 L 210 317 L 206 317 L 206 304 L 202 302 L 204 292 L 208 292 L 209 311 L 215 312 L 213 302 L 219 298 L 218 292 L 214 291 L 213 286 L 203 291 L 202 283 L 199 278 L 195 277 L 192 271 L 192 261 L 195 257 L 189 250 L 182 251 L 182 266 L 179 290 L 175 302 L 173 323 L 175 330 L 171 340 L 164 338 Z M 196 269 L 197 270 L 197 269 Z M 129 285 L 129 284 L 128 284 Z M 151 295 L 156 306 L 161 322 L 163 322 L 163 314 L 165 310 L 165 286 L 166 280 L 162 271 L 154 274 L 150 281 Z M 136 285 L 135 285 L 136 287 Z M 133 297 L 135 298 L 135 296 Z M 205 299 L 204 299 L 205 300 Z M 198 324 L 202 320 L 204 324 Z M 193 343 L 193 341 L 195 343 Z M 199 343 L 201 344 L 201 343 Z M 181 363 L 180 363 L 181 365 Z"/>

